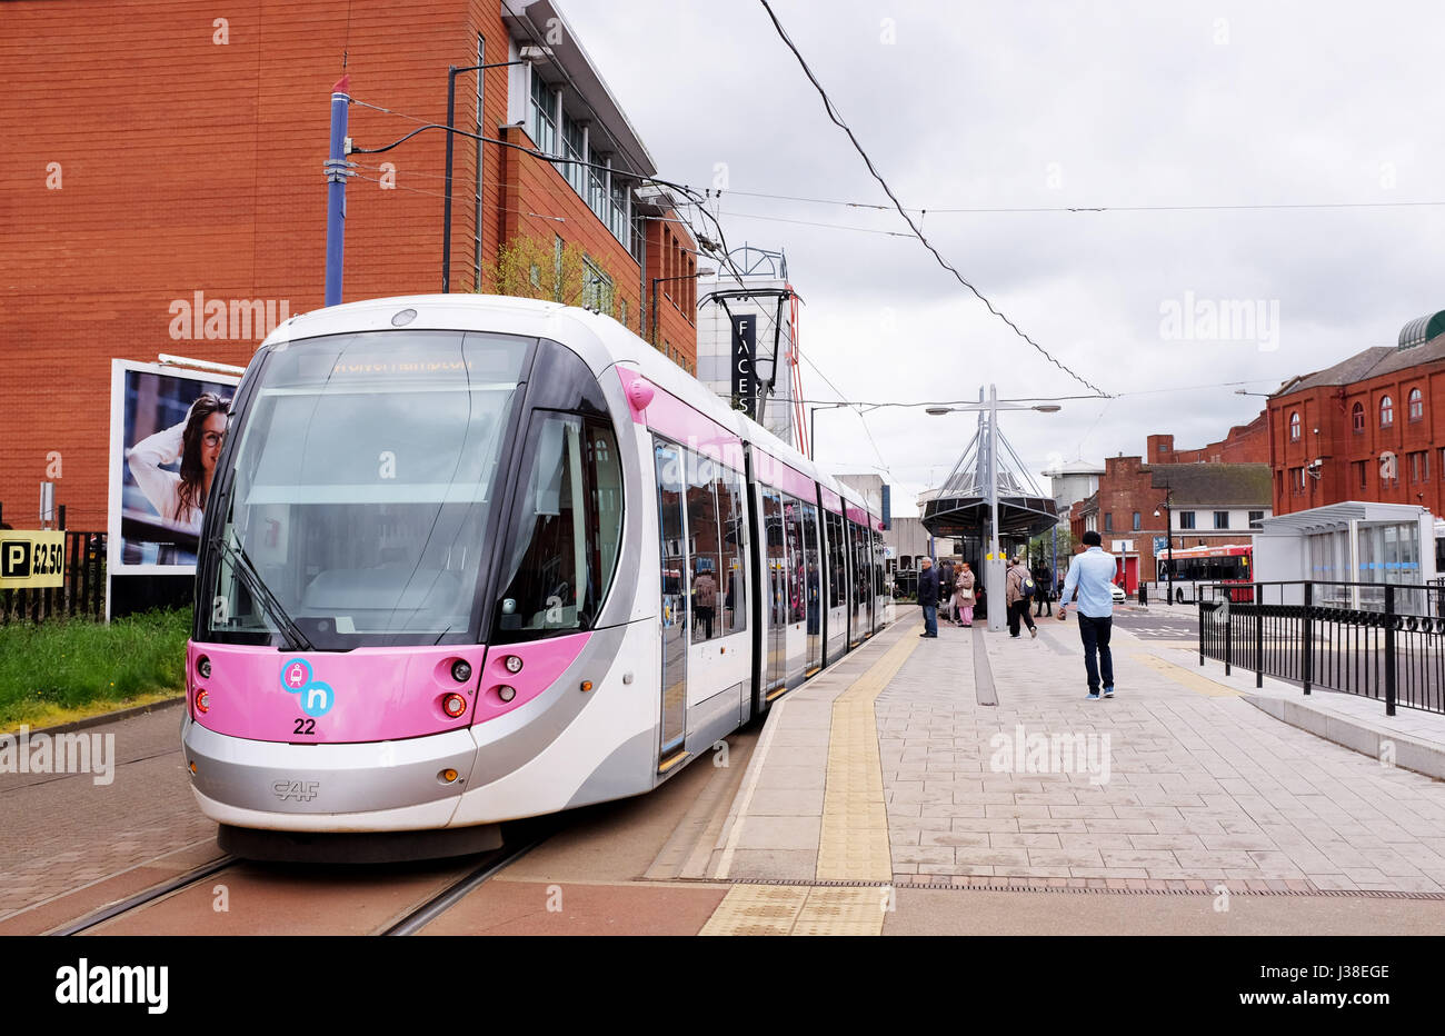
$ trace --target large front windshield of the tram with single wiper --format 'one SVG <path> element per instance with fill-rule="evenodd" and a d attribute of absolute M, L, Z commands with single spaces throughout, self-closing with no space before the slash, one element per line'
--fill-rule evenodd
<path fill-rule="evenodd" d="M 266 360 L 202 548 L 208 633 L 338 650 L 464 642 L 532 340 L 386 331 Z"/>

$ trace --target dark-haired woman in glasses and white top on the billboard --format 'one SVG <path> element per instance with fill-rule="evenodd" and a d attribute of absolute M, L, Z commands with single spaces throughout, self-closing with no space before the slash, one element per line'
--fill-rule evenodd
<path fill-rule="evenodd" d="M 185 420 L 146 436 L 126 457 L 130 474 L 156 513 L 192 536 L 201 535 L 230 406 L 231 400 L 214 392 L 202 393 Z M 163 465 L 176 461 L 179 472 L 165 470 Z"/>

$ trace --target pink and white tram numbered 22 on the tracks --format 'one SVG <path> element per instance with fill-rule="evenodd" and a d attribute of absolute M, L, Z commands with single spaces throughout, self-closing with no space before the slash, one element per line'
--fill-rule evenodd
<path fill-rule="evenodd" d="M 611 318 L 295 316 L 207 506 L 194 793 L 240 855 L 402 858 L 647 792 L 881 626 L 880 529 Z"/>

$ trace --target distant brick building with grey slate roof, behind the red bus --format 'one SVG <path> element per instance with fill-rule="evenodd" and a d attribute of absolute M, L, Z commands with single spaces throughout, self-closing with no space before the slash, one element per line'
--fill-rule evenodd
<path fill-rule="evenodd" d="M 1166 536 L 1175 549 L 1250 543 L 1251 530 L 1270 514 L 1269 464 L 1173 458 L 1254 457 L 1267 445 L 1264 420 L 1261 413 L 1201 449 L 1175 451 L 1172 435 L 1150 435 L 1149 455 L 1169 458 L 1165 462 L 1105 458 L 1098 491 L 1074 504 L 1069 530 L 1075 538 L 1090 529 L 1100 533 L 1104 549 L 1118 558 L 1129 594 L 1155 582 L 1155 543 Z"/>

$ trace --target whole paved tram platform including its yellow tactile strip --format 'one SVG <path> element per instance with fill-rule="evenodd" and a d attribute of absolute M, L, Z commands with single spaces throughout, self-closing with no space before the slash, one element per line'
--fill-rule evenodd
<path fill-rule="evenodd" d="M 1308 896 L 1445 900 L 1445 785 L 1276 718 L 1289 704 L 1321 733 L 1354 724 L 1442 750 L 1445 717 L 1389 727 L 1368 699 L 1300 705 L 1299 688 L 1257 689 L 1118 623 L 1117 695 L 1088 701 L 1072 617 L 1036 621 L 1036 639 L 941 623 L 935 640 L 902 608 L 780 699 L 715 844 L 679 874 L 728 889 L 702 933 L 1046 932 L 1069 913 L 1069 897 L 1033 922 L 996 905 L 988 928 L 957 896 L 916 906 L 945 890 L 1195 900 L 1160 931 L 1209 931 L 1199 913 L 1220 894 L 1274 903 L 1257 923 L 1280 906 L 1298 923 Z"/>

